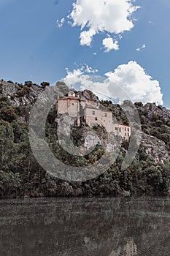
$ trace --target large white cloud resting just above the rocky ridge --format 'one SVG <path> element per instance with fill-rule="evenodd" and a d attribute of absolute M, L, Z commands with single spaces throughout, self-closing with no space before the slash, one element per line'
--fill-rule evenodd
<path fill-rule="evenodd" d="M 157 80 L 147 75 L 145 70 L 136 63 L 129 61 L 128 64 L 118 66 L 113 72 L 107 72 L 104 77 L 85 74 L 85 68 L 67 70 L 63 81 L 68 86 L 78 86 L 78 89 L 94 91 L 102 99 L 112 98 L 119 103 L 124 99 L 132 102 L 156 102 L 163 104 L 161 87 Z"/>

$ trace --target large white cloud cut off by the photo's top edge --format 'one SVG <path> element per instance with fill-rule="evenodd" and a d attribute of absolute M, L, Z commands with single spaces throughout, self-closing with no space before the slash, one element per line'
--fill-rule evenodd
<path fill-rule="evenodd" d="M 134 27 L 131 16 L 137 9 L 134 0 L 76 0 L 68 18 L 72 26 L 86 29 L 80 33 L 80 45 L 90 46 L 95 34 L 130 31 Z"/>

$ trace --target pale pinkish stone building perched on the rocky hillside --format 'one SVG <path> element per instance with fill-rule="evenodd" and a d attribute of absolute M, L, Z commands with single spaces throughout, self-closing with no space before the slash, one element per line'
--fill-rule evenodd
<path fill-rule="evenodd" d="M 68 113 L 69 116 L 77 119 L 77 125 L 80 125 L 80 117 L 83 116 L 90 127 L 101 125 L 107 129 L 107 132 L 114 132 L 125 140 L 129 140 L 131 136 L 131 127 L 115 124 L 111 111 L 99 108 L 93 99 L 85 100 L 76 97 L 74 91 L 69 91 L 68 97 L 58 99 L 57 110 L 58 114 Z"/>

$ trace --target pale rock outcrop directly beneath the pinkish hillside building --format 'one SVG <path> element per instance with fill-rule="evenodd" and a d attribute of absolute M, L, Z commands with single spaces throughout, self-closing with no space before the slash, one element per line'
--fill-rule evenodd
<path fill-rule="evenodd" d="M 58 140 L 61 145 L 66 149 L 66 151 L 72 150 L 73 154 L 85 155 L 88 150 L 93 151 L 93 149 L 100 145 L 103 146 L 106 151 L 115 150 L 115 138 L 111 133 L 107 135 L 107 131 L 102 127 L 75 127 L 76 118 L 65 115 L 58 115 L 55 118 L 55 122 L 58 126 Z M 72 132 L 74 131 L 74 140 L 78 140 L 81 144 L 79 147 L 75 146 L 72 141 Z M 77 136 L 79 132 L 79 138 Z M 75 142 L 75 141 L 74 141 Z M 77 144 L 77 143 L 75 143 Z"/>

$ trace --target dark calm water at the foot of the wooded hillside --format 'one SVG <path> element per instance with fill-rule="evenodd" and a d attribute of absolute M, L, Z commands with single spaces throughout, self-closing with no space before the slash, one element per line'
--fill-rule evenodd
<path fill-rule="evenodd" d="M 169 256 L 169 197 L 0 201 L 1 256 Z"/>

